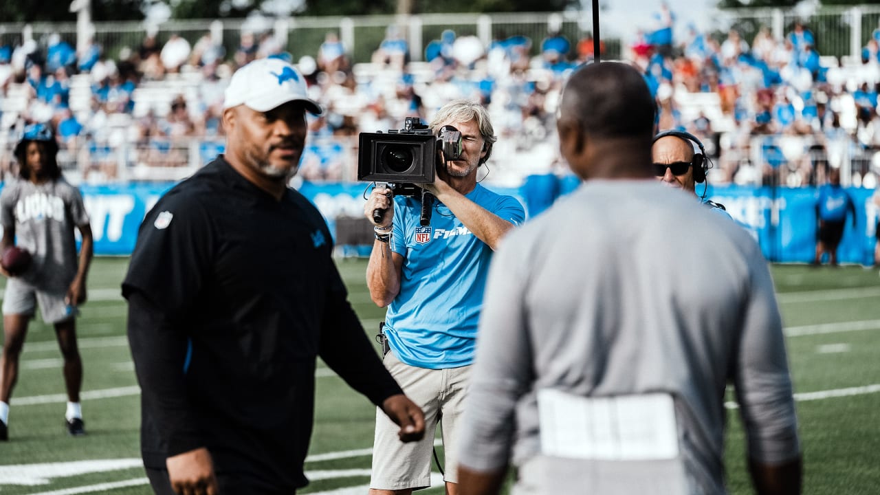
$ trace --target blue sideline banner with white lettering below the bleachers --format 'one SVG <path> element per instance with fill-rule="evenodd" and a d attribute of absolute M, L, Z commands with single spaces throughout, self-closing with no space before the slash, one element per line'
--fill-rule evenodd
<path fill-rule="evenodd" d="M 546 210 L 554 201 L 574 190 L 572 176 L 536 175 L 520 188 L 495 188 L 495 192 L 517 197 L 524 204 L 527 218 Z M 92 218 L 97 255 L 130 255 L 135 247 L 137 228 L 143 216 L 165 194 L 172 183 L 131 185 L 82 185 L 85 208 Z M 309 183 L 300 192 L 324 215 L 330 232 L 336 232 L 336 218 L 363 217 L 367 183 Z M 698 192 L 701 192 L 698 186 Z M 855 226 L 847 221 L 840 244 L 840 262 L 873 264 L 876 224 L 880 211 L 871 202 L 872 189 L 847 190 L 855 203 Z M 774 262 L 810 262 L 816 248 L 815 188 L 709 188 L 708 197 L 724 204 L 730 216 L 758 240 Z M 360 251 L 359 251 L 360 252 Z M 367 251 L 369 253 L 369 250 Z"/>

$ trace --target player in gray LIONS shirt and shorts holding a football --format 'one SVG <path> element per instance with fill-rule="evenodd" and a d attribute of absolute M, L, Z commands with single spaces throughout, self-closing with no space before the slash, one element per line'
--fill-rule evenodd
<path fill-rule="evenodd" d="M 32 255 L 26 271 L 5 277 L 4 347 L 0 355 L 0 440 L 8 439 L 9 402 L 18 378 L 18 357 L 28 322 L 40 306 L 43 321 L 55 326 L 64 359 L 67 388 L 65 427 L 85 433 L 79 392 L 83 363 L 77 349 L 77 306 L 85 301 L 85 278 L 92 262 L 92 226 L 79 190 L 64 180 L 56 160 L 58 144 L 47 124 L 25 128 L 15 147 L 19 173 L 0 192 L 0 250 L 12 244 Z M 77 229 L 82 243 L 77 254 Z"/>

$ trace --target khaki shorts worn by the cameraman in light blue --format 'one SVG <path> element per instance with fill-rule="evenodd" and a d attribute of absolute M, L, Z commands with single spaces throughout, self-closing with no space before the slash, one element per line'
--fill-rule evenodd
<path fill-rule="evenodd" d="M 444 445 L 444 481 L 458 483 L 458 422 L 461 418 L 471 366 L 429 370 L 408 366 L 385 355 L 385 367 L 406 394 L 425 413 L 425 436 L 403 443 L 395 425 L 382 410 L 376 411 L 376 438 L 370 488 L 404 490 L 430 486 L 431 457 L 438 417 Z"/>

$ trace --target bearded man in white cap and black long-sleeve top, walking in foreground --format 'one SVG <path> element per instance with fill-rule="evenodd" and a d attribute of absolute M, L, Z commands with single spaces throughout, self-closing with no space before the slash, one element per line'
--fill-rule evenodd
<path fill-rule="evenodd" d="M 321 113 L 302 75 L 231 78 L 226 151 L 147 213 L 122 294 L 156 493 L 294 493 L 307 480 L 318 357 L 418 440 L 422 410 L 385 371 L 319 211 L 288 188 Z"/>

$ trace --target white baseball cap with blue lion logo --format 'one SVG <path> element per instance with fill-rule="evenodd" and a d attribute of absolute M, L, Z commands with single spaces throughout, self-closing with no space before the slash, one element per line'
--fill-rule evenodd
<path fill-rule="evenodd" d="M 246 105 L 258 112 L 267 112 L 288 101 L 302 101 L 305 109 L 314 115 L 324 110 L 309 98 L 305 79 L 296 67 L 279 58 L 260 58 L 232 74 L 226 87 L 223 107 Z"/>

